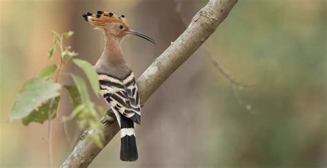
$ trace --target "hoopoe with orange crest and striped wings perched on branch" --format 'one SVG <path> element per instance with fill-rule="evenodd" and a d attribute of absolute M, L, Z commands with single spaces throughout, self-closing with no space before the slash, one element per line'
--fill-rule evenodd
<path fill-rule="evenodd" d="M 99 74 L 100 94 L 114 112 L 121 129 L 120 159 L 135 161 L 138 158 L 134 123 L 141 124 L 139 93 L 135 76 L 123 59 L 121 40 L 127 34 L 140 36 L 152 43 L 150 37 L 131 30 L 126 17 L 111 12 L 87 12 L 83 17 L 105 34 L 105 48 L 95 64 Z"/>

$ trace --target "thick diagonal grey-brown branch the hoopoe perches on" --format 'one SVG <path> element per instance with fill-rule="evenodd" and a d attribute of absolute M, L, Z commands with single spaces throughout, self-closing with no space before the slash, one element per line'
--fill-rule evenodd
<path fill-rule="evenodd" d="M 166 79 L 183 64 L 208 37 L 215 32 L 218 25 L 224 21 L 237 0 L 210 0 L 195 17 L 188 28 L 170 45 L 143 74 L 138 78 L 139 96 L 141 105 L 166 81 Z M 103 127 L 106 146 L 119 132 L 117 120 Z M 96 130 L 89 130 L 85 134 L 93 134 Z M 81 136 L 67 160 L 61 167 L 88 167 L 101 149 Z"/>

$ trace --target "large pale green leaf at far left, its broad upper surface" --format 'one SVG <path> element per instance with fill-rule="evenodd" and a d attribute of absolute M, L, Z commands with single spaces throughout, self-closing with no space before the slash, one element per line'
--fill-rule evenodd
<path fill-rule="evenodd" d="M 43 81 L 41 78 L 31 78 L 23 85 L 14 107 L 10 112 L 9 120 L 28 116 L 36 107 L 50 98 L 59 96 L 61 85 L 53 81 Z"/>

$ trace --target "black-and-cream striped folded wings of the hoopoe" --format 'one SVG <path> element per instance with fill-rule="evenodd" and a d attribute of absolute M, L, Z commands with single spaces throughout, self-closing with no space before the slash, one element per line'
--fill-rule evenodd
<path fill-rule="evenodd" d="M 125 78 L 99 74 L 99 83 L 100 94 L 106 99 L 114 112 L 119 112 L 135 123 L 141 123 L 139 93 L 132 72 Z"/>

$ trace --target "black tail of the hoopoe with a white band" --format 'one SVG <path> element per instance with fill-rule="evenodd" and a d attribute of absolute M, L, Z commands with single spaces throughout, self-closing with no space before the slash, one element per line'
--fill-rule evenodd
<path fill-rule="evenodd" d="M 134 122 L 130 118 L 121 116 L 120 159 L 122 161 L 135 161 L 138 157 Z"/>

